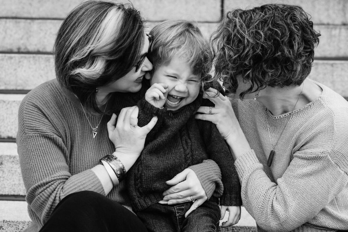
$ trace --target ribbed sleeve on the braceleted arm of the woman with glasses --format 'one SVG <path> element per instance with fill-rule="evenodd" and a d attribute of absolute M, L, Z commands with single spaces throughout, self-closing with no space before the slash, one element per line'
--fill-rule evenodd
<path fill-rule="evenodd" d="M 91 190 L 103 194 L 103 186 L 90 169 L 69 172 L 67 148 L 48 116 L 34 104 L 22 102 L 18 116 L 17 146 L 27 191 L 26 201 L 43 225 L 68 194 Z"/>

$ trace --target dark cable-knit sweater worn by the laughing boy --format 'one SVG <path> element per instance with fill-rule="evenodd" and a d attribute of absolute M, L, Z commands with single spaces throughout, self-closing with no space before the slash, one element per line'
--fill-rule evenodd
<path fill-rule="evenodd" d="M 159 109 L 144 98 L 150 87 L 143 81 L 138 102 L 138 125 L 147 124 L 153 115 L 158 116 L 155 128 L 147 136 L 141 156 L 127 173 L 128 192 L 135 212 L 145 209 L 163 199 L 163 191 L 168 189 L 167 180 L 172 179 L 185 168 L 199 164 L 205 159 L 214 160 L 221 169 L 223 193 L 220 204 L 240 206 L 240 184 L 234 159 L 216 126 L 208 121 L 195 119 L 195 114 L 203 102 L 203 93 L 190 104 L 179 110 Z M 213 106 L 205 99 L 203 105 Z"/>

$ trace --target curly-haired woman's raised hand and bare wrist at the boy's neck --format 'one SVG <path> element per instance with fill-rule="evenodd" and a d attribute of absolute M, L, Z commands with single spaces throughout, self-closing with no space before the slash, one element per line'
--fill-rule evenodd
<path fill-rule="evenodd" d="M 240 128 L 235 112 L 231 106 L 231 102 L 222 94 L 216 96 L 217 90 L 209 88 L 204 92 L 204 98 L 209 99 L 215 104 L 215 107 L 201 106 L 197 110 L 196 119 L 206 120 L 214 123 L 219 130 L 221 136 L 226 140 L 230 147 L 233 158 L 236 160 L 248 150 L 251 150 L 245 135 Z M 210 114 L 211 113 L 211 114 Z"/>

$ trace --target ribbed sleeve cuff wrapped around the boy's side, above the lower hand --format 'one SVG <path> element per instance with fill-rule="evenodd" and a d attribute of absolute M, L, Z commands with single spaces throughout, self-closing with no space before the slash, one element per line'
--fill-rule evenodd
<path fill-rule="evenodd" d="M 222 195 L 221 171 L 215 161 L 207 159 L 189 168 L 196 173 L 208 199 L 212 196 L 219 198 Z"/>

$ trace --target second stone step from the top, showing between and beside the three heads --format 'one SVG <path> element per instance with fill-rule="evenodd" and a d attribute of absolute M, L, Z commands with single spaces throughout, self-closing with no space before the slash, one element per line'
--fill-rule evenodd
<path fill-rule="evenodd" d="M 56 33 L 62 20 L 51 19 L 0 19 L 0 51 L 3 52 L 52 52 Z M 149 22 L 151 30 L 158 22 Z M 217 23 L 198 23 L 202 33 L 209 36 Z M 347 25 L 315 25 L 320 31 L 320 43 L 316 57 L 348 57 Z"/>

